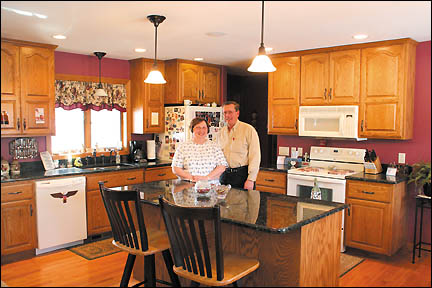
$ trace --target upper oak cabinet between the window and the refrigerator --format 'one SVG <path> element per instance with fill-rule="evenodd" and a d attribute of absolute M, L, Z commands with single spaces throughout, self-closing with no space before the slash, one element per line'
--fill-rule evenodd
<path fill-rule="evenodd" d="M 162 133 L 165 128 L 164 91 L 166 84 L 147 84 L 144 80 L 154 61 L 139 58 L 129 60 L 131 79 L 131 133 Z M 164 63 L 158 61 L 158 69 L 164 75 Z"/>

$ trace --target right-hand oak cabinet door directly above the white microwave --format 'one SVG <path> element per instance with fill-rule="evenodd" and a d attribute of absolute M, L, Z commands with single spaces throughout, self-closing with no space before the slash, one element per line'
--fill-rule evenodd
<path fill-rule="evenodd" d="M 358 104 L 360 100 L 360 49 L 330 53 L 329 104 Z"/>

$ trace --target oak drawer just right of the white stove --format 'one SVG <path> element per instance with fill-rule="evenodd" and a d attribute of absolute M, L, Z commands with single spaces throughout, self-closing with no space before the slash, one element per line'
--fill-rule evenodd
<path fill-rule="evenodd" d="M 363 181 L 347 181 L 347 197 L 390 202 L 392 197 L 392 185 L 371 183 Z"/>

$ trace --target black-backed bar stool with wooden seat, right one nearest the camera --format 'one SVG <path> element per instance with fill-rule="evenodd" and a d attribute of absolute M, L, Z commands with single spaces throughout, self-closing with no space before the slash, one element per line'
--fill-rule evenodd
<path fill-rule="evenodd" d="M 174 272 L 200 284 L 224 286 L 233 284 L 259 267 L 257 259 L 224 254 L 222 248 L 220 209 L 215 207 L 182 207 L 159 197 L 159 203 L 174 254 Z M 214 231 L 206 231 L 205 221 Z M 214 232 L 214 247 L 209 235 Z"/>

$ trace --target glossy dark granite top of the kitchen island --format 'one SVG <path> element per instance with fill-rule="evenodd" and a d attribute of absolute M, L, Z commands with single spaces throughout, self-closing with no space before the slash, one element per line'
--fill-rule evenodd
<path fill-rule="evenodd" d="M 167 180 L 113 189 L 136 189 L 141 192 L 143 203 L 156 206 L 159 206 L 159 195 L 179 205 L 203 207 L 219 204 L 222 222 L 279 234 L 300 229 L 304 225 L 348 207 L 343 203 L 301 199 L 282 194 L 235 188 L 232 188 L 224 199 L 218 198 L 214 191 L 211 191 L 207 197 L 202 197 L 194 192 L 194 185 L 195 183 L 188 181 Z M 272 204 L 276 204 L 279 209 L 270 208 Z M 318 207 L 319 210 L 313 213 L 311 209 L 308 209 L 308 215 L 298 220 L 299 207 L 306 206 Z M 280 213 L 280 209 L 287 212 Z"/>

